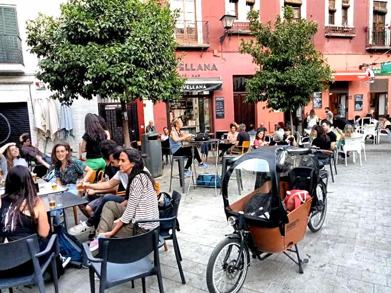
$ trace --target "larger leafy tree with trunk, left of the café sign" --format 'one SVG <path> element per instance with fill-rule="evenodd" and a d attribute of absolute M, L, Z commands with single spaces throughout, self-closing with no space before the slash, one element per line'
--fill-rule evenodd
<path fill-rule="evenodd" d="M 158 0 L 68 0 L 58 18 L 27 21 L 27 44 L 39 58 L 37 78 L 52 98 L 67 105 L 82 97 L 148 99 L 180 96 L 184 80 L 175 71 L 176 14 Z M 124 115 L 124 118 L 127 116 Z M 125 145 L 130 145 L 123 119 Z"/>

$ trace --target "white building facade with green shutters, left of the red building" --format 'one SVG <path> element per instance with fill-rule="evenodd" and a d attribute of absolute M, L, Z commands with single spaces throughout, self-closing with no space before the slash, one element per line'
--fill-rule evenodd
<path fill-rule="evenodd" d="M 5 142 L 17 142 L 23 132 L 30 132 L 33 144 L 37 142 L 37 128 L 34 115 L 37 99 L 48 99 L 52 92 L 37 80 L 36 55 L 29 52 L 26 43 L 26 21 L 38 17 L 38 13 L 50 16 L 60 14 L 61 0 L 44 1 L 3 0 L 0 3 L 0 146 Z M 60 118 L 60 103 L 55 101 Z M 84 134 L 84 118 L 87 113 L 98 114 L 97 99 L 76 100 L 70 106 L 73 117 L 75 139 L 68 138 L 74 152 Z M 39 137 L 38 137 L 39 138 Z M 49 153 L 53 144 L 60 139 L 39 139 L 40 149 Z M 46 145 L 46 147 L 45 147 Z M 76 154 L 75 154 L 76 155 Z"/>

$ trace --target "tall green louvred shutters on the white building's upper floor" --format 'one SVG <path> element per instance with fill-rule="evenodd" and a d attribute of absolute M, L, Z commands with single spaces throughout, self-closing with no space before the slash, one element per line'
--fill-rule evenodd
<path fill-rule="evenodd" d="M 0 6 L 0 63 L 23 64 L 16 8 L 12 6 Z"/>

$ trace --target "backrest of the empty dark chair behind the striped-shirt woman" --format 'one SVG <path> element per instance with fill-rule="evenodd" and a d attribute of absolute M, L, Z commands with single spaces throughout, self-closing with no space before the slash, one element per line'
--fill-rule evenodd
<path fill-rule="evenodd" d="M 125 238 L 99 238 L 99 254 L 106 262 L 126 264 L 157 251 L 159 228 Z"/>

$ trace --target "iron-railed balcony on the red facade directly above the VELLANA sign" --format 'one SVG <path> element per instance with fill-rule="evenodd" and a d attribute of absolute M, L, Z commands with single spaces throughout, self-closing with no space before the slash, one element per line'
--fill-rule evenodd
<path fill-rule="evenodd" d="M 176 21 L 175 40 L 178 49 L 209 48 L 208 21 Z"/>

